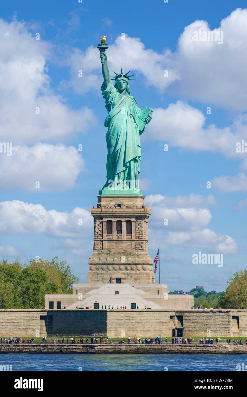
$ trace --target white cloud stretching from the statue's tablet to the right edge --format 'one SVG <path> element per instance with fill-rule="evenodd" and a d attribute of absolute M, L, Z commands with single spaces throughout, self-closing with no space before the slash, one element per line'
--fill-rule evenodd
<path fill-rule="evenodd" d="M 153 118 L 143 139 L 163 141 L 168 144 L 168 150 L 173 146 L 239 158 L 243 160 L 242 168 L 247 168 L 246 154 L 236 152 L 236 143 L 247 141 L 246 118 L 241 116 L 224 128 L 213 124 L 206 127 L 205 122 L 206 117 L 200 110 L 178 100 L 166 109 L 153 109 Z"/>

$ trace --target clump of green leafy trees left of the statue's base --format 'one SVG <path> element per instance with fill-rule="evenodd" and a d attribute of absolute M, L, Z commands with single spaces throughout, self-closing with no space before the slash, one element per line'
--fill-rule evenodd
<path fill-rule="evenodd" d="M 20 264 L 0 262 L 0 308 L 44 308 L 45 295 L 72 293 L 79 278 L 66 262 L 55 257 Z"/>

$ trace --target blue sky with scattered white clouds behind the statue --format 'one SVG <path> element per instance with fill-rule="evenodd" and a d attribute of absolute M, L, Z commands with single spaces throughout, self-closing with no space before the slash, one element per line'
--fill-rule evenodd
<path fill-rule="evenodd" d="M 13 142 L 12 156 L 0 153 L 1 258 L 57 255 L 86 281 L 90 206 L 106 175 L 96 47 L 107 34 L 109 68 L 132 69 L 131 94 L 153 109 L 140 180 L 161 282 L 224 290 L 246 267 L 247 162 L 235 146 L 247 141 L 245 2 L 12 1 L 0 18 L 0 142 Z M 222 31 L 222 44 L 193 42 L 198 29 Z M 224 265 L 193 265 L 199 251 L 223 253 Z"/>

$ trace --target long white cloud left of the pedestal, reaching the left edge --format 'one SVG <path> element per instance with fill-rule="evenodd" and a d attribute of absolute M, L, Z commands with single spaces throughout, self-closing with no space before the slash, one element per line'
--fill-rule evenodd
<path fill-rule="evenodd" d="M 82 225 L 79 225 L 80 220 Z M 84 208 L 77 207 L 67 213 L 19 200 L 0 202 L 0 233 L 45 233 L 57 238 L 82 238 L 90 236 L 92 231 L 92 216 Z"/>

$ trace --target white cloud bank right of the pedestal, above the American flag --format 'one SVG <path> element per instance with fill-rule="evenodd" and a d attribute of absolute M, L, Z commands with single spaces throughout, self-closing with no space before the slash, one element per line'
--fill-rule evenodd
<path fill-rule="evenodd" d="M 146 204 L 151 206 L 149 220 L 149 242 L 151 248 L 157 245 L 201 247 L 210 252 L 232 254 L 237 244 L 228 235 L 215 233 L 206 227 L 212 215 L 206 205 L 214 205 L 213 195 L 189 195 L 185 197 L 164 197 L 149 195 Z M 168 224 L 164 225 L 164 219 Z M 155 231 L 154 231 L 155 230 Z"/>

